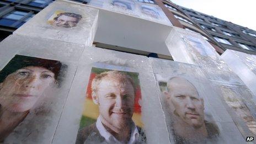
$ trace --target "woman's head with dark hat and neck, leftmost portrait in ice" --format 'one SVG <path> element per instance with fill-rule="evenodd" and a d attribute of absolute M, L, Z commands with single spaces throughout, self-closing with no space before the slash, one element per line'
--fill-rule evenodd
<path fill-rule="evenodd" d="M 61 62 L 15 55 L 0 71 L 0 142 L 34 108 L 47 88 L 58 83 Z"/>

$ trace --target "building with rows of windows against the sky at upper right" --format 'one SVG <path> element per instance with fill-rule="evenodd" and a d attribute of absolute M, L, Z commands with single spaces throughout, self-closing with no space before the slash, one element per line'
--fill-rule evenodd
<path fill-rule="evenodd" d="M 170 1 L 156 2 L 174 26 L 193 30 L 205 36 L 219 54 L 226 49 L 256 54 L 256 31 L 193 9 L 177 6 Z"/>

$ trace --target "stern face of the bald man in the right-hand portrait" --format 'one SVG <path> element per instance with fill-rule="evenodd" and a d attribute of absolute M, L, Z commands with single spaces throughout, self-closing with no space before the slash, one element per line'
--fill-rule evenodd
<path fill-rule="evenodd" d="M 196 88 L 184 78 L 168 81 L 167 102 L 172 113 L 187 124 L 199 128 L 204 124 L 204 102 Z"/>

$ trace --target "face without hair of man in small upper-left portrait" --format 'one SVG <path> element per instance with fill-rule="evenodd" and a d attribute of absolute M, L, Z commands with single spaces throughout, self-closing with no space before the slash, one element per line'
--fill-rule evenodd
<path fill-rule="evenodd" d="M 70 17 L 67 15 L 61 15 L 57 19 L 54 20 L 55 26 L 62 26 L 65 28 L 71 28 L 76 26 L 78 23 L 78 19 L 76 17 Z"/>

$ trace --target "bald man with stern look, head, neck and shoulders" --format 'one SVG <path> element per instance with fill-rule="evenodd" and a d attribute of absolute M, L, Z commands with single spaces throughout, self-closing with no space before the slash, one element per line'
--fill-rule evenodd
<path fill-rule="evenodd" d="M 164 95 L 176 143 L 204 143 L 218 136 L 218 127 L 205 120 L 204 99 L 191 82 L 172 77 Z"/>

